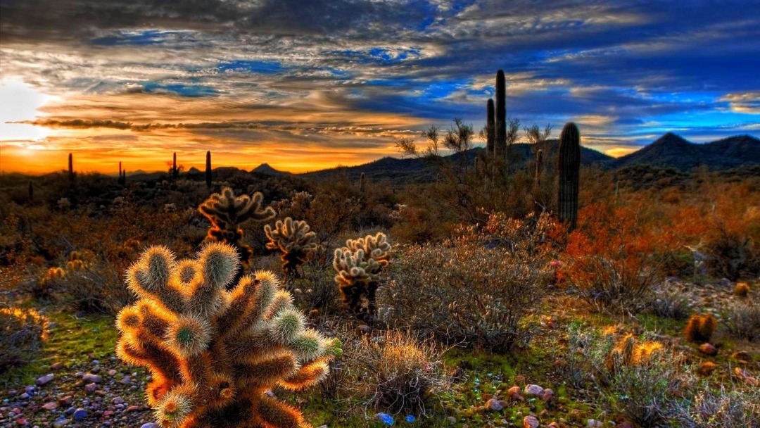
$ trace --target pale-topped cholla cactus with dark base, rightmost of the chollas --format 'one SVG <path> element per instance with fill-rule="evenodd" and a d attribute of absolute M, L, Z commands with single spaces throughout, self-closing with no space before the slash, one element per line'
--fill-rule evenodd
<path fill-rule="evenodd" d="M 340 288 L 343 302 L 348 303 L 356 315 L 375 315 L 375 292 L 378 279 L 391 258 L 391 244 L 385 233 L 348 239 L 346 246 L 335 249 L 333 267 L 337 271 L 335 282 Z M 366 297 L 366 309 L 362 297 Z"/>

